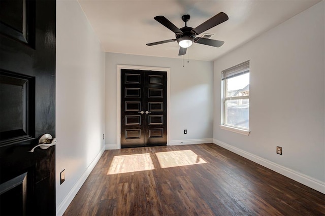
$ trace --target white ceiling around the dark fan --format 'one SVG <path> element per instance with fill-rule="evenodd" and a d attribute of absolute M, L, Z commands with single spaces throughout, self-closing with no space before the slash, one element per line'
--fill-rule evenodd
<path fill-rule="evenodd" d="M 212 33 L 211 39 L 225 43 L 220 48 L 193 44 L 188 49 L 189 59 L 212 61 L 320 1 L 79 0 L 79 3 L 106 52 L 170 58 L 182 58 L 178 56 L 177 42 L 146 46 L 175 38 L 174 32 L 153 17 L 163 15 L 181 28 L 182 15 L 189 14 L 187 26 L 195 28 L 222 11 L 229 20 L 205 33 Z"/>

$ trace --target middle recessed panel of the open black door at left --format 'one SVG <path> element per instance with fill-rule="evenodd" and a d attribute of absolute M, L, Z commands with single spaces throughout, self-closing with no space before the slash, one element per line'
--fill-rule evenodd
<path fill-rule="evenodd" d="M 32 139 L 35 132 L 35 78 L 0 72 L 0 145 Z M 14 95 L 14 96 L 13 96 Z"/>

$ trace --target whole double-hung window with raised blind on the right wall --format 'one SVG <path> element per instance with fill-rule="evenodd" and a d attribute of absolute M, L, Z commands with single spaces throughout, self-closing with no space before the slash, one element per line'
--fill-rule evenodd
<path fill-rule="evenodd" d="M 221 128 L 249 134 L 249 61 L 222 71 Z M 224 126 L 224 127 L 222 127 Z"/>

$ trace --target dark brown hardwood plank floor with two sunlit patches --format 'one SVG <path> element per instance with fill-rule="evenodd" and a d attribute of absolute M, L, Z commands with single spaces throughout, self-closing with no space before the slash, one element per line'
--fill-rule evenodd
<path fill-rule="evenodd" d="M 325 215 L 325 195 L 214 144 L 105 151 L 64 215 Z"/>

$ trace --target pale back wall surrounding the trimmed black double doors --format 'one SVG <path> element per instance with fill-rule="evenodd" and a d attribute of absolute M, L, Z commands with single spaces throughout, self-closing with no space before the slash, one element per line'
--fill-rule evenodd
<path fill-rule="evenodd" d="M 186 63 L 185 63 L 186 62 Z M 193 143 L 213 136 L 213 62 L 106 53 L 106 145 L 116 146 L 116 65 L 171 68 L 170 140 Z M 187 134 L 184 134 L 187 129 Z"/>

